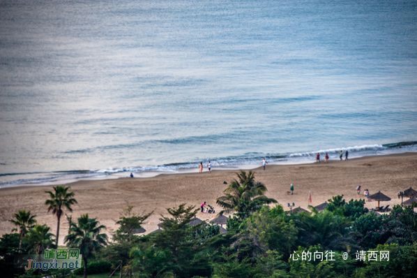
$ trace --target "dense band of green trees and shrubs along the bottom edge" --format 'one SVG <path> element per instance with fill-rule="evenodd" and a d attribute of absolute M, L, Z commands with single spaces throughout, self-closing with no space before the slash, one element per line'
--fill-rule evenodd
<path fill-rule="evenodd" d="M 65 237 L 68 247 L 81 250 L 83 267 L 75 272 L 48 270 L 38 276 L 12 268 L 13 254 L 20 249 L 39 254 L 54 246 L 49 227 L 24 224 L 28 228 L 22 243 L 20 233 L 0 238 L 0 272 L 10 278 L 98 272 L 133 278 L 416 277 L 413 207 L 397 205 L 391 214 L 379 216 L 365 208 L 364 200 L 334 196 L 321 212 L 310 207 L 311 212 L 291 214 L 266 192 L 254 173 L 238 173 L 218 198 L 223 213 L 233 213 L 225 233 L 198 221 L 199 210 L 185 203 L 168 207 L 160 217 L 162 229 L 148 235 L 137 231 L 151 213 L 138 214 L 131 205 L 115 220 L 118 229 L 108 239 L 98 219 L 84 214 L 70 224 Z"/>

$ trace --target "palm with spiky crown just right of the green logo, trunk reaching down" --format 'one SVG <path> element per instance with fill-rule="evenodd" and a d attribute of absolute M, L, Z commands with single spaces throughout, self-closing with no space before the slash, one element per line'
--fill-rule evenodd
<path fill-rule="evenodd" d="M 93 257 L 92 252 L 107 245 L 107 235 L 100 233 L 104 225 L 99 226 L 99 222 L 89 218 L 89 214 L 83 214 L 78 218 L 77 223 L 71 223 L 70 233 L 65 237 L 65 242 L 70 248 L 79 249 L 84 261 L 84 278 L 87 277 L 87 260 Z"/>

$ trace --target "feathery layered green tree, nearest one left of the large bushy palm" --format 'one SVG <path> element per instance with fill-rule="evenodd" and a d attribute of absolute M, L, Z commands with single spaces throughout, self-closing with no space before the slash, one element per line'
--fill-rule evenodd
<path fill-rule="evenodd" d="M 203 224 L 189 225 L 198 209 L 181 204 L 167 211 L 170 217 L 160 218 L 163 231 L 150 237 L 153 250 L 137 248 L 132 251 L 133 266 L 150 277 L 209 275 L 208 251 L 203 240 L 206 235 L 199 233 Z"/>

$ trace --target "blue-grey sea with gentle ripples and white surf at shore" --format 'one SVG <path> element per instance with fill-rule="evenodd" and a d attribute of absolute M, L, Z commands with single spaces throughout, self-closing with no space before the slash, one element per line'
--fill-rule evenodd
<path fill-rule="evenodd" d="M 417 1 L 0 0 L 0 186 L 416 141 Z"/>

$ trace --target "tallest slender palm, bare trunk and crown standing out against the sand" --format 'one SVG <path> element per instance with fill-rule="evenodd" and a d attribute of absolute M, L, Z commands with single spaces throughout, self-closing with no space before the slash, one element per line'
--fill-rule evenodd
<path fill-rule="evenodd" d="M 58 219 L 58 225 L 56 228 L 56 248 L 58 248 L 58 242 L 59 242 L 59 222 L 61 221 L 61 215 L 63 212 L 63 208 L 66 207 L 67 210 L 70 212 L 73 212 L 73 208 L 71 205 L 77 203 L 77 200 L 75 200 L 74 192 L 69 192 L 68 189 L 70 189 L 70 186 L 54 186 L 54 191 L 45 191 L 45 193 L 50 194 L 50 200 L 46 200 L 45 205 L 48 205 L 48 212 L 52 210 L 52 214 L 56 215 L 56 218 Z"/>

